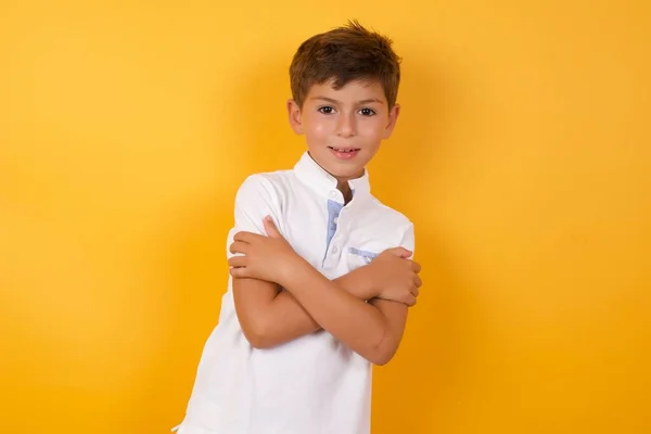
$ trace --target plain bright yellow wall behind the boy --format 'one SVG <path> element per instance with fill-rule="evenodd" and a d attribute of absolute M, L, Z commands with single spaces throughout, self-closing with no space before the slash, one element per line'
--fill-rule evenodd
<path fill-rule="evenodd" d="M 7 432 L 180 421 L 235 189 L 303 151 L 289 62 L 348 17 L 405 58 L 371 177 L 426 283 L 374 434 L 651 432 L 648 2 L 110 3 L 0 4 Z"/>

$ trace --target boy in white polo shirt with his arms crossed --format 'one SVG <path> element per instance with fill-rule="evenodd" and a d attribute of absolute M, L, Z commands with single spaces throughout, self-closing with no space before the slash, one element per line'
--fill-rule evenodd
<path fill-rule="evenodd" d="M 349 23 L 305 41 L 290 75 L 308 150 L 238 191 L 229 290 L 179 434 L 368 434 L 371 367 L 419 294 L 413 226 L 365 168 L 399 113 L 391 41 Z"/>

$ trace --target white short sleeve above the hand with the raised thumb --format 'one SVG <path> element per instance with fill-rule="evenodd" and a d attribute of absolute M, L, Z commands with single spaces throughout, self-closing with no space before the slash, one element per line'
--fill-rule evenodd
<path fill-rule="evenodd" d="M 227 256 L 234 256 L 230 253 L 230 245 L 233 242 L 235 233 L 241 231 L 266 234 L 263 220 L 271 216 L 279 229 L 281 222 L 280 200 L 270 180 L 263 175 L 252 175 L 244 180 L 238 193 L 235 194 L 234 226 L 228 233 L 226 245 Z"/>

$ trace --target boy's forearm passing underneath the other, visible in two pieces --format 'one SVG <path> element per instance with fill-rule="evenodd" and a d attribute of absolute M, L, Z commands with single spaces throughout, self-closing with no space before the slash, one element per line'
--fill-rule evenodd
<path fill-rule="evenodd" d="M 376 295 L 369 272 L 369 267 L 361 267 L 332 282 L 353 297 L 366 302 Z M 319 323 L 289 291 L 280 291 L 269 302 L 263 315 L 265 347 L 277 346 L 321 330 Z"/>

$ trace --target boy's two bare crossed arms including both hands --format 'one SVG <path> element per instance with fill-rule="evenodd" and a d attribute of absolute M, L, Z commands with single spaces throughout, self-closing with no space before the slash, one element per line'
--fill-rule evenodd
<path fill-rule="evenodd" d="M 270 220 L 264 225 L 268 237 L 239 232 L 230 246 L 243 254 L 229 264 L 237 315 L 250 343 L 269 348 L 324 329 L 369 361 L 388 362 L 422 284 L 420 266 L 406 259 L 411 253 L 391 250 L 330 281 L 293 251 Z"/>

